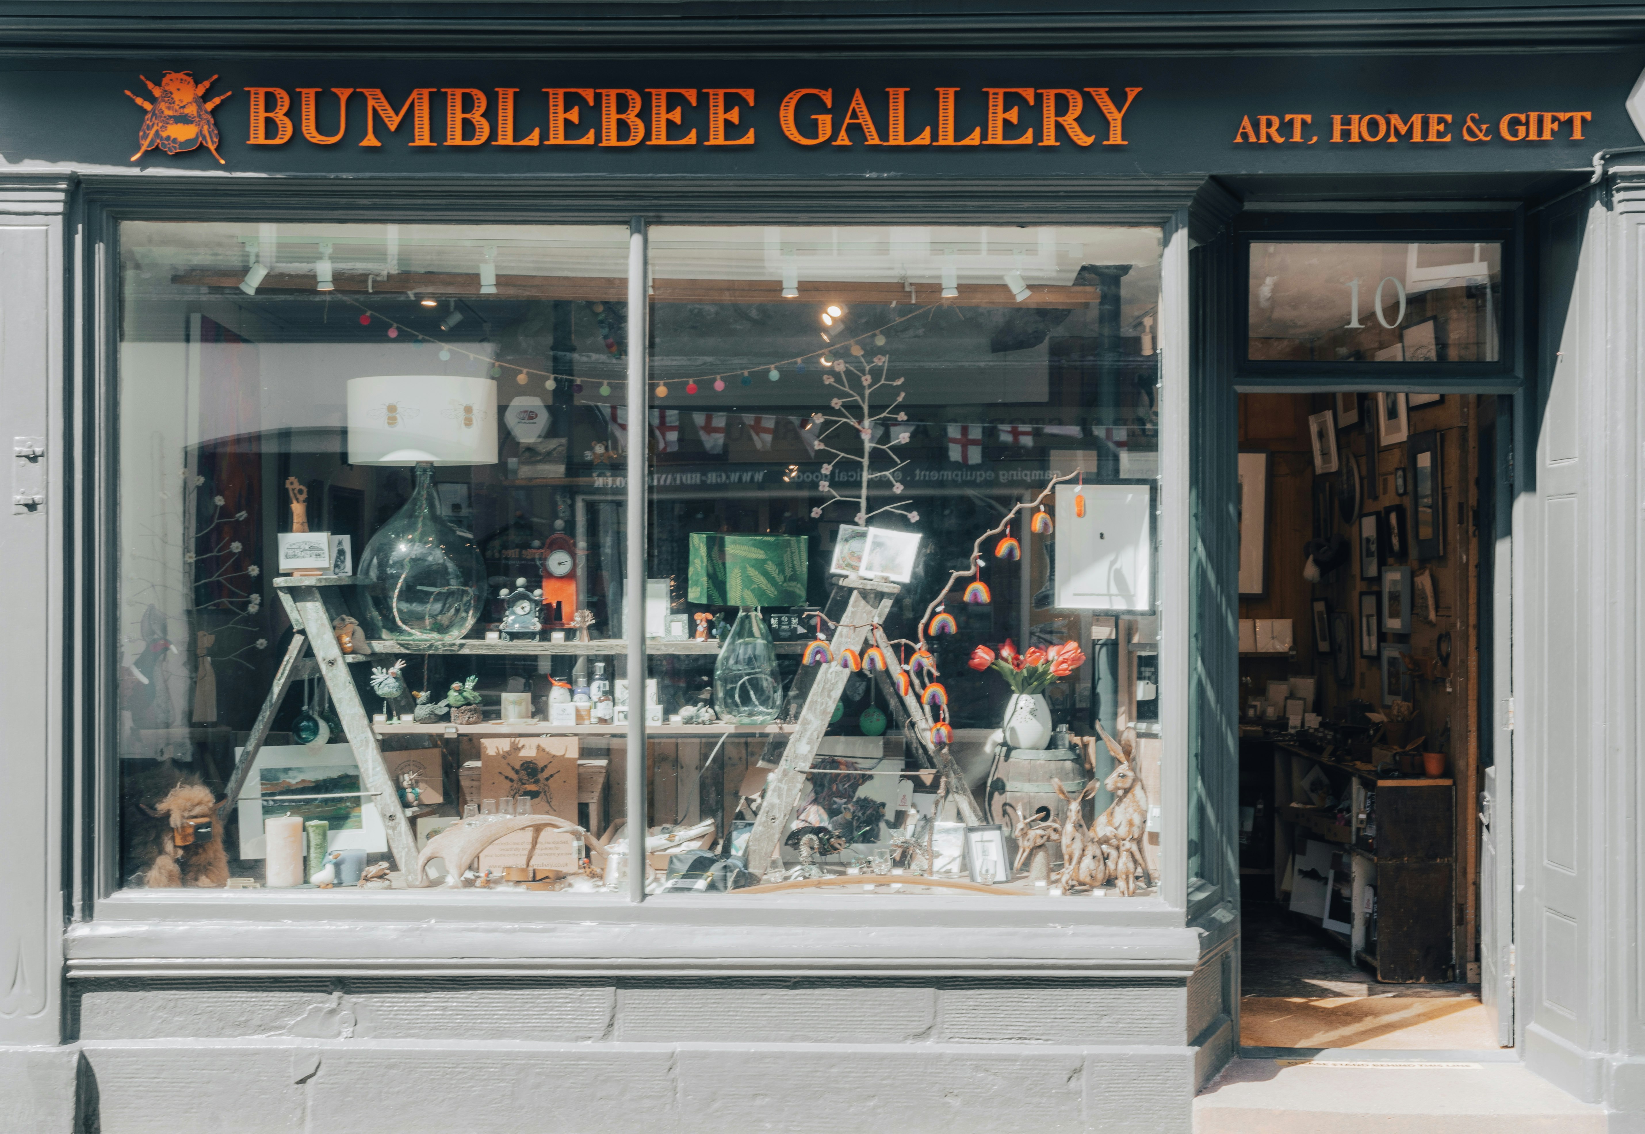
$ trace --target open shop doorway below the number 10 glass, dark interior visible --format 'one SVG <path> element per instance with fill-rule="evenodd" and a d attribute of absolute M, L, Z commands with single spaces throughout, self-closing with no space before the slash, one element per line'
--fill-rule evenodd
<path fill-rule="evenodd" d="M 1480 996 L 1477 820 L 1495 403 L 1239 398 L 1247 1050 L 1504 1040 L 1502 1006 Z"/>

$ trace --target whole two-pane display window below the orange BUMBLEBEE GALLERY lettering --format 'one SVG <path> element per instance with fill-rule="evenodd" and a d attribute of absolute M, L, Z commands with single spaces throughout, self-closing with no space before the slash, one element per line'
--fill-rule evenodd
<path fill-rule="evenodd" d="M 1156 892 L 1160 238 L 123 224 L 123 884 Z"/>

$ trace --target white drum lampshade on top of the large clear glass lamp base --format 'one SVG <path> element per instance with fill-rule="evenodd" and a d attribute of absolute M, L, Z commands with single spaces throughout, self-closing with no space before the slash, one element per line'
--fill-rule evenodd
<path fill-rule="evenodd" d="M 350 378 L 349 463 L 495 465 L 497 383 L 462 375 Z"/>

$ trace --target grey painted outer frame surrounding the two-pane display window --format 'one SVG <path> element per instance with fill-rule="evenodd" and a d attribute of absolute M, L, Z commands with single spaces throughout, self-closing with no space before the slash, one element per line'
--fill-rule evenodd
<path fill-rule="evenodd" d="M 730 182 L 719 199 L 693 186 L 679 202 L 678 191 L 655 186 L 614 187 L 597 179 L 581 181 L 574 192 L 541 181 L 507 182 L 485 192 L 484 179 L 446 181 L 385 179 L 383 182 L 347 186 L 329 179 L 285 179 L 270 184 L 173 177 L 87 177 L 82 181 L 72 258 L 77 271 L 69 283 L 76 312 L 69 334 L 76 340 L 74 383 L 76 432 L 82 468 L 76 482 L 77 574 L 74 606 L 82 628 L 82 659 L 76 669 L 79 695 L 76 733 L 79 751 L 79 784 L 74 799 L 76 833 L 74 891 L 76 920 L 94 929 L 109 920 L 184 922 L 224 920 L 327 920 L 377 922 L 388 909 L 415 910 L 415 917 L 457 922 L 521 920 L 517 902 L 500 896 L 464 892 L 454 896 L 439 889 L 390 891 L 388 894 L 350 894 L 347 909 L 331 896 L 304 894 L 293 901 L 280 891 L 227 891 L 197 894 L 191 891 L 122 889 L 118 876 L 118 753 L 117 723 L 117 620 L 118 595 L 118 352 L 120 352 L 120 242 L 122 220 L 234 220 L 234 222 L 461 222 L 475 224 L 612 224 L 628 225 L 645 217 L 651 224 L 994 224 L 994 225 L 1104 225 L 1148 224 L 1165 232 L 1161 256 L 1161 473 L 1158 501 L 1163 509 L 1160 544 L 1161 603 L 1161 846 L 1165 881 L 1153 897 L 1107 897 L 1102 902 L 1082 899 L 1017 899 L 1023 927 L 1035 925 L 1114 925 L 1128 929 L 1181 927 L 1191 915 L 1191 881 L 1183 876 L 1188 825 L 1188 708 L 1186 680 L 1191 634 L 1188 618 L 1188 202 L 1198 182 L 1156 184 L 1147 192 L 1135 189 L 1096 189 L 1079 207 L 1071 207 L 1056 186 L 1045 182 L 956 182 L 933 181 L 911 186 L 890 202 L 882 201 L 878 186 L 847 187 L 804 184 L 762 187 L 750 194 L 745 184 L 732 194 Z M 456 179 L 451 179 L 456 181 Z M 521 184 L 531 184 L 521 191 Z M 870 192 L 873 191 L 873 192 Z M 1109 197 L 1109 199 L 1105 199 Z M 475 205 L 475 202 L 485 202 Z M 612 202 L 617 202 L 617 207 Z M 500 202 L 500 204 L 498 204 Z M 461 224 L 459 222 L 459 224 Z M 630 322 L 633 329 L 633 322 Z M 1175 869 L 1173 869 L 1175 866 Z M 1221 892 L 1219 887 L 1211 887 Z M 383 901 L 383 899 L 388 901 Z M 604 927 L 632 922 L 640 909 L 645 920 L 666 922 L 734 922 L 745 927 L 795 924 L 860 925 L 883 924 L 885 915 L 911 922 L 946 925 L 1000 925 L 980 899 L 946 899 L 934 896 L 883 897 L 872 909 L 860 899 L 816 894 L 765 896 L 758 902 L 734 896 L 693 896 L 691 904 L 678 901 L 623 901 L 623 896 L 594 896 L 595 901 L 535 904 L 526 920 L 541 924 L 587 922 Z M 1194 881 L 1193 910 L 1206 909 L 1207 887 Z M 887 906 L 890 902 L 890 906 Z M 1026 907 L 1023 904 L 1028 904 Z M 301 909 L 299 909 L 301 907 Z M 678 907 L 678 909 L 676 909 Z M 860 917 L 852 914 L 860 912 Z M 1025 917 L 1023 917 L 1025 915 Z M 1012 919 L 1013 922 L 1018 919 Z M 163 935 L 166 937 L 166 935 Z M 138 950 L 145 948 L 137 945 Z M 941 947 L 949 952 L 952 947 Z M 959 947 L 964 948 L 962 945 Z"/>

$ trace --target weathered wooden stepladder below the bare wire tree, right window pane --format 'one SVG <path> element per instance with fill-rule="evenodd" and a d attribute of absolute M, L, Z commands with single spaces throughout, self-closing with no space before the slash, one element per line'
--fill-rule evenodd
<path fill-rule="evenodd" d="M 890 611 L 892 600 L 901 593 L 901 587 L 859 575 L 847 575 L 841 587 L 850 588 L 850 602 L 846 605 L 846 613 L 841 615 L 839 623 L 836 623 L 834 638 L 829 643 L 834 657 L 837 659 L 846 649 L 860 652 L 864 643 L 872 639 L 872 644 L 885 652 L 885 659 L 892 669 L 883 677 L 895 689 L 895 674 L 901 666 L 880 623 L 885 620 L 887 611 Z M 872 598 L 869 598 L 870 595 Z M 799 720 L 795 725 L 793 736 L 788 738 L 788 748 L 783 749 L 781 763 L 765 782 L 765 800 L 760 804 L 760 815 L 755 818 L 753 833 L 748 837 L 748 869 L 755 874 L 765 871 L 767 864 L 780 853 L 783 838 L 793 828 L 806 776 L 811 771 L 813 761 L 816 761 L 818 746 L 822 743 L 822 735 L 827 731 L 829 720 L 834 715 L 834 705 L 839 703 L 841 694 L 846 692 L 846 680 L 849 677 L 850 671 L 844 666 L 824 666 L 822 672 L 811 684 L 809 694 L 806 694 L 806 703 L 799 710 Z M 972 825 L 985 822 L 982 809 L 972 799 L 971 789 L 959 772 L 959 766 L 948 751 L 948 744 L 931 743 L 931 720 L 926 715 L 924 705 L 920 703 L 913 692 L 903 694 L 901 700 L 908 710 L 908 717 L 915 721 L 915 733 L 920 738 L 920 744 L 929 754 L 938 772 L 948 777 L 949 792 L 959 805 L 961 817 Z"/>

